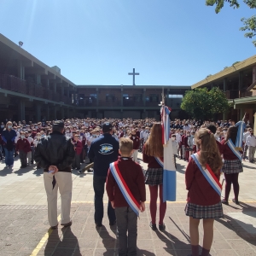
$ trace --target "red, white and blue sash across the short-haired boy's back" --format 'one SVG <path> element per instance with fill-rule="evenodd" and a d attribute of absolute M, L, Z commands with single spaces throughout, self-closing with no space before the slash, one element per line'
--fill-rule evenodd
<path fill-rule="evenodd" d="M 119 170 L 118 162 L 116 161 L 116 162 L 111 163 L 109 165 L 109 167 L 110 167 L 110 171 L 112 172 L 116 183 L 119 185 L 119 189 L 121 190 L 122 194 L 124 195 L 125 200 L 127 201 L 128 205 L 137 214 L 137 216 L 139 216 L 140 204 L 137 202 L 137 200 L 131 194 L 131 190 L 125 183 L 125 180 L 122 177 L 121 172 Z"/>

